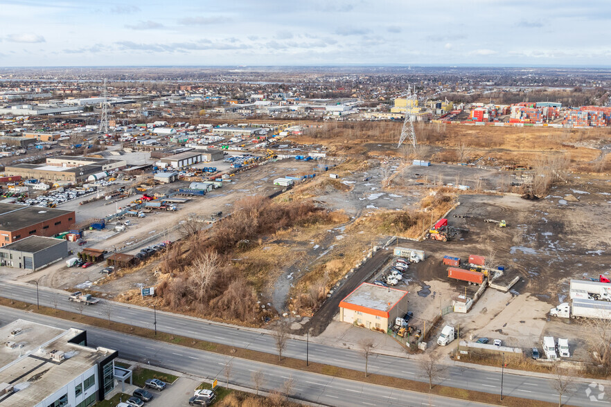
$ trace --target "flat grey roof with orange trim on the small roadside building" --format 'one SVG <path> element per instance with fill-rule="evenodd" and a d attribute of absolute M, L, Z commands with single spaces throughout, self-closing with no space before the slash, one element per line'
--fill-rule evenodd
<path fill-rule="evenodd" d="M 406 295 L 407 291 L 364 282 L 339 302 L 339 307 L 387 317 L 388 312 Z"/>

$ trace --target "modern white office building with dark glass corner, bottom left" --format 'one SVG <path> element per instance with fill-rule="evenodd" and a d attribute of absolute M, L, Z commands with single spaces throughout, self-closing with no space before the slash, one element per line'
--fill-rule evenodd
<path fill-rule="evenodd" d="M 89 407 L 114 389 L 118 352 L 87 346 L 87 331 L 18 319 L 0 338 L 0 406 Z"/>

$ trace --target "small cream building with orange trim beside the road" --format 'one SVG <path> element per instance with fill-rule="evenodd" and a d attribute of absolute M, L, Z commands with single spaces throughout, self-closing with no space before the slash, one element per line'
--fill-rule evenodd
<path fill-rule="evenodd" d="M 364 282 L 339 302 L 339 320 L 386 332 L 407 313 L 407 291 Z"/>

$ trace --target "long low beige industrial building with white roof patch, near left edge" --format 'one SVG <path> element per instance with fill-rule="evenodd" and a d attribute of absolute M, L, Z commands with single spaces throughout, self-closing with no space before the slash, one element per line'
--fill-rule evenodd
<path fill-rule="evenodd" d="M 34 178 L 46 181 L 67 181 L 78 183 L 87 180 L 89 175 L 102 172 L 99 165 L 82 167 L 57 167 L 56 165 L 16 164 L 4 168 L 6 175 L 19 175 L 24 179 Z"/>

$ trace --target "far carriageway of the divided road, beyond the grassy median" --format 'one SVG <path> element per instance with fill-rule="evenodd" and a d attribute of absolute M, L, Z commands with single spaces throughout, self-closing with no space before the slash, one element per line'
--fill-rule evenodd
<path fill-rule="evenodd" d="M 49 292 L 41 287 L 39 291 L 40 304 L 46 305 L 47 307 L 53 307 L 53 297 L 55 295 L 55 293 Z M 0 296 L 35 304 L 36 288 L 3 281 L 0 282 Z M 57 296 L 57 298 L 57 307 L 59 309 L 76 311 L 73 303 L 67 300 L 67 294 Z M 97 316 L 99 318 L 108 318 L 105 310 L 105 301 L 100 301 L 98 305 L 85 307 L 83 314 Z M 116 322 L 127 323 L 134 326 L 146 327 L 149 329 L 154 328 L 154 313 L 152 309 L 130 307 L 113 302 L 111 319 Z M 274 338 L 258 330 L 209 323 L 196 318 L 161 312 L 157 312 L 157 329 L 162 332 L 182 334 L 203 341 L 223 343 L 234 347 L 242 347 L 274 355 L 277 354 Z M 287 342 L 287 348 L 285 352 L 283 352 L 283 355 L 305 360 L 305 348 L 305 341 L 291 339 Z M 135 356 L 139 355 L 136 353 Z M 140 355 L 139 357 L 144 356 Z M 339 368 L 364 371 L 364 359 L 359 350 L 310 342 L 309 359 L 310 361 L 318 363 L 335 365 Z M 276 368 L 272 368 L 272 370 L 273 369 Z M 374 354 L 370 356 L 369 372 L 400 377 L 403 379 L 427 381 L 427 378 L 421 376 L 418 360 L 397 356 L 383 354 Z M 302 372 L 299 373 L 300 376 L 301 374 Z M 456 365 L 448 365 L 445 367 L 442 377 L 437 380 L 436 383 L 455 388 L 500 394 L 502 379 L 504 395 L 537 399 L 552 403 L 558 402 L 558 395 L 556 390 L 554 390 L 554 381 L 522 374 L 505 372 L 502 378 L 499 372 L 490 372 L 480 368 L 464 368 Z M 588 383 L 581 382 L 576 383 L 574 395 L 565 397 L 565 403 L 574 406 L 592 406 L 592 401 L 586 397 L 587 384 Z M 609 396 L 605 396 L 603 401 L 600 401 L 600 405 L 611 404 L 609 401 L 610 399 Z"/>

